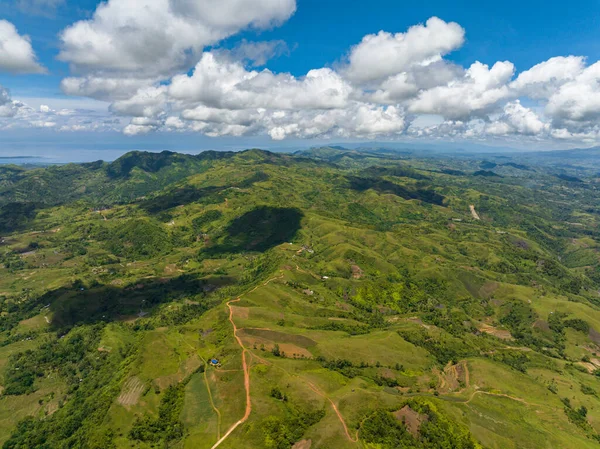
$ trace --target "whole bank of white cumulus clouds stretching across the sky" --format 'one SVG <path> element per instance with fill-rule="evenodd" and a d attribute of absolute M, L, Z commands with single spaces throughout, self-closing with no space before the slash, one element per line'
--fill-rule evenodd
<path fill-rule="evenodd" d="M 51 101 L 31 108 L 0 88 L 0 128 L 274 140 L 600 138 L 600 62 L 557 56 L 520 73 L 510 61 L 459 65 L 447 55 L 463 45 L 465 30 L 436 17 L 367 35 L 341 62 L 302 76 L 265 68 L 290 53 L 285 42 L 219 47 L 242 30 L 283 23 L 295 8 L 295 0 L 102 2 L 89 20 L 61 33 L 59 59 L 73 70 L 63 92 L 110 103 L 108 111 Z M 0 43 L 7 23 L 0 21 Z M 42 70 L 28 39 L 11 32 L 28 45 L 18 54 L 33 61 L 29 71 Z M 0 45 L 0 69 L 3 51 Z"/>

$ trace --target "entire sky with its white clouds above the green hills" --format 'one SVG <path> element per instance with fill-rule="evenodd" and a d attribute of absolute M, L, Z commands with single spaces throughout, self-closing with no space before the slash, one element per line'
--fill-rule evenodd
<path fill-rule="evenodd" d="M 540 149 L 596 145 L 600 135 L 598 1 L 221 0 L 207 12 L 201 0 L 155 0 L 145 15 L 134 10 L 148 1 L 105 5 L 110 20 L 135 17 L 131 48 L 99 18 L 100 2 L 2 2 L 0 20 L 17 34 L 0 30 L 0 44 L 29 41 L 33 59 L 3 67 L 19 55 L 0 50 L 11 102 L 0 103 L 0 151 L 85 148 L 90 135 L 119 148 L 420 139 Z M 161 20 L 192 31 L 168 34 L 156 63 Z M 365 43 L 382 30 L 390 34 Z M 45 73 L 29 73 L 40 71 L 35 61 Z M 112 87 L 92 91 L 90 80 Z"/>

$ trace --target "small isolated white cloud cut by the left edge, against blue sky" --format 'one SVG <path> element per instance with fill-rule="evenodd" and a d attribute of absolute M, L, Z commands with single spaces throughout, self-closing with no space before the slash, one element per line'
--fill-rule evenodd
<path fill-rule="evenodd" d="M 37 62 L 29 36 L 21 36 L 15 26 L 0 20 L 0 71 L 9 73 L 44 73 Z"/>

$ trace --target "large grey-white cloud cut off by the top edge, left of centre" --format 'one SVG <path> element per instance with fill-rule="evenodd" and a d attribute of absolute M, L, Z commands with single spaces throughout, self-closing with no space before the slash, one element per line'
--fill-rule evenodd
<path fill-rule="evenodd" d="M 61 34 L 59 59 L 79 70 L 171 75 L 207 45 L 287 20 L 295 0 L 108 0 Z"/>

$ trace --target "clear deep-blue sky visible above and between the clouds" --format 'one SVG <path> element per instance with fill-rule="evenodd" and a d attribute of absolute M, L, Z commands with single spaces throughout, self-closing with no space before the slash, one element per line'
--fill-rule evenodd
<path fill-rule="evenodd" d="M 77 20 L 91 16 L 98 1 L 66 0 L 65 6 L 49 15 L 31 15 L 19 10 L 14 0 L 0 5 L 0 18 L 12 21 L 28 34 L 49 75 L 14 76 L 0 74 L 0 84 L 15 95 L 40 97 L 61 95 L 60 80 L 68 75 L 68 64 L 57 61 L 58 33 Z M 404 4 L 403 4 L 404 3 Z M 421 3 L 421 4 L 417 4 Z M 584 55 L 600 59 L 600 2 L 516 1 L 478 2 L 394 0 L 299 0 L 298 10 L 283 26 L 236 35 L 225 45 L 240 39 L 281 39 L 293 48 L 290 56 L 269 64 L 278 72 L 304 75 L 314 67 L 335 63 L 366 34 L 380 30 L 400 32 L 438 16 L 455 21 L 467 31 L 464 47 L 450 55 L 463 65 L 479 60 L 487 64 L 510 60 L 525 70 L 553 56 Z M 534 18 L 534 20 L 532 20 Z"/>

